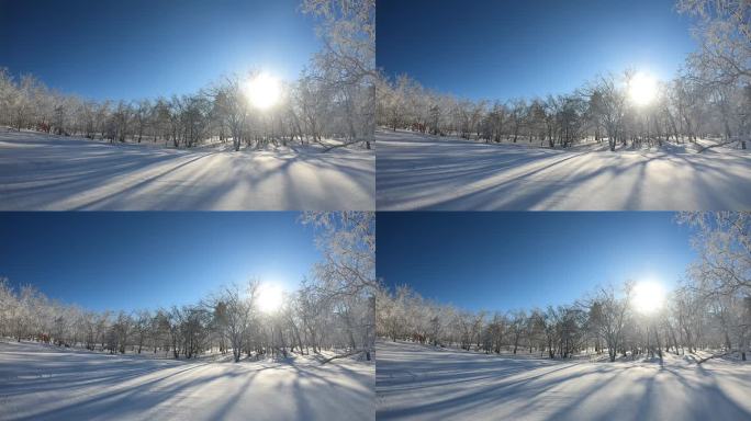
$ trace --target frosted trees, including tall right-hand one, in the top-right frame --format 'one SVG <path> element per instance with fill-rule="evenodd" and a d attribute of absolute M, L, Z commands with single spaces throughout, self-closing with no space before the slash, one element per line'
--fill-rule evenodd
<path fill-rule="evenodd" d="M 681 0 L 696 16 L 699 53 L 659 84 L 649 104 L 629 101 L 636 72 L 601 76 L 574 92 L 506 102 L 430 91 L 407 76 L 378 83 L 378 124 L 467 139 L 568 147 L 581 140 L 661 145 L 722 137 L 746 148 L 751 136 L 751 12 L 737 1 Z"/>

